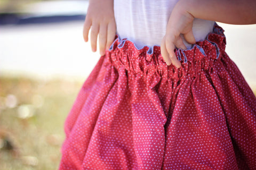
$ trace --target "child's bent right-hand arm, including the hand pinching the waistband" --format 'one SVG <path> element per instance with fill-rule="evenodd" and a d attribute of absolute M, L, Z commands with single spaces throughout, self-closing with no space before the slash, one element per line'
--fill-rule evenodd
<path fill-rule="evenodd" d="M 174 54 L 175 46 L 186 49 L 180 37 L 184 35 L 190 44 L 195 43 L 192 31 L 194 18 L 228 24 L 256 23 L 255 0 L 180 0 L 171 13 L 166 34 L 161 43 L 161 53 L 167 65 L 180 67 Z"/>

